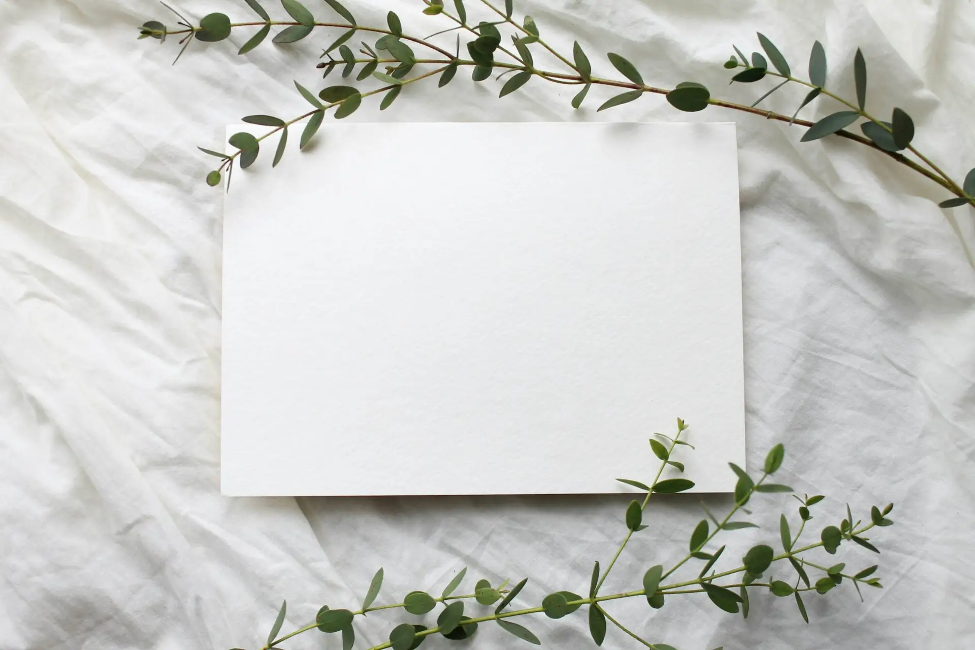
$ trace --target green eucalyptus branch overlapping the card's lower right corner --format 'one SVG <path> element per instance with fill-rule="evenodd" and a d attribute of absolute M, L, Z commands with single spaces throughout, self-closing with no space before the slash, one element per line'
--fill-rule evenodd
<path fill-rule="evenodd" d="M 401 623 L 389 632 L 388 641 L 374 645 L 370 648 L 370 650 L 385 650 L 386 648 L 392 648 L 393 650 L 409 650 L 410 648 L 416 648 L 427 636 L 435 633 L 440 634 L 441 636 L 450 640 L 461 640 L 473 636 L 477 631 L 479 624 L 488 622 L 494 622 L 505 631 L 509 631 L 530 643 L 538 644 L 541 641 L 533 632 L 529 631 L 524 626 L 511 621 L 511 619 L 532 614 L 545 614 L 551 619 L 561 619 L 572 614 L 583 606 L 588 607 L 590 633 L 592 634 L 593 640 L 597 643 L 597 645 L 601 645 L 604 641 L 606 623 L 608 622 L 626 633 L 628 636 L 639 641 L 644 647 L 652 648 L 654 650 L 670 650 L 673 648 L 673 646 L 666 643 L 650 642 L 636 632 L 630 630 L 612 614 L 610 614 L 605 609 L 605 606 L 614 600 L 643 596 L 646 598 L 647 604 L 649 604 L 651 608 L 659 609 L 665 604 L 665 596 L 675 597 L 679 595 L 705 593 L 712 600 L 712 602 L 714 602 L 714 604 L 722 610 L 732 613 L 738 613 L 740 611 L 743 616 L 747 617 L 749 608 L 748 591 L 761 589 L 767 590 L 768 592 L 777 596 L 793 596 L 796 599 L 802 618 L 808 623 L 805 606 L 800 595 L 801 593 L 815 592 L 818 594 L 825 594 L 841 584 L 843 580 L 847 580 L 853 584 L 857 593 L 860 593 L 860 585 L 877 588 L 880 587 L 879 580 L 871 577 L 877 570 L 877 566 L 871 566 L 859 571 L 858 573 L 849 574 L 843 572 L 843 569 L 845 568 L 844 563 L 835 564 L 833 566 L 825 566 L 810 561 L 804 557 L 804 554 L 820 548 L 825 549 L 829 554 L 835 554 L 839 548 L 839 545 L 844 540 L 852 541 L 871 551 L 877 552 L 877 549 L 867 540 L 867 538 L 863 537 L 863 534 L 875 526 L 890 525 L 892 521 L 887 519 L 886 516 L 892 510 L 892 505 L 887 506 L 882 512 L 877 507 L 872 508 L 870 523 L 862 526 L 859 525 L 859 521 L 854 521 L 853 516 L 850 514 L 850 510 L 847 507 L 846 517 L 842 519 L 839 526 L 826 526 L 822 531 L 821 540 L 819 542 L 808 544 L 801 548 L 795 547 L 793 538 L 789 533 L 786 516 L 783 515 L 780 522 L 783 553 L 775 554 L 770 546 L 760 544 L 753 547 L 742 557 L 742 564 L 740 566 L 723 570 L 722 572 L 712 572 L 710 575 L 706 575 L 708 570 L 715 565 L 724 551 L 723 546 L 715 553 L 706 553 L 704 551 L 704 549 L 714 540 L 715 536 L 719 532 L 731 531 L 746 527 L 755 527 L 755 524 L 747 521 L 733 521 L 732 516 L 738 513 L 758 493 L 792 491 L 792 488 L 788 486 L 765 482 L 766 478 L 778 471 L 785 457 L 785 450 L 783 446 L 779 444 L 773 447 L 766 456 L 761 478 L 758 480 L 754 480 L 744 470 L 731 464 L 731 469 L 738 476 L 738 480 L 735 485 L 735 503 L 721 520 L 717 519 L 711 515 L 710 512 L 706 511 L 708 517 L 715 522 L 717 527 L 709 534 L 708 519 L 702 520 L 694 528 L 694 531 L 690 536 L 690 541 L 688 544 L 691 551 L 690 554 L 685 555 L 666 572 L 659 564 L 650 567 L 643 576 L 643 589 L 600 595 L 598 593 L 599 588 L 602 586 L 603 581 L 609 574 L 609 571 L 615 565 L 616 560 L 620 557 L 620 554 L 626 547 L 629 539 L 633 536 L 633 534 L 642 531 L 646 527 L 643 525 L 642 519 L 643 511 L 649 502 L 649 497 L 653 493 L 682 492 L 693 487 L 694 483 L 685 478 L 660 478 L 663 470 L 668 466 L 674 467 L 679 472 L 683 472 L 683 464 L 679 461 L 673 460 L 673 455 L 675 454 L 675 451 L 679 445 L 691 446 L 686 441 L 681 440 L 681 436 L 686 430 L 686 424 L 683 422 L 683 420 L 679 419 L 678 431 L 673 438 L 663 434 L 654 434 L 656 438 L 668 440 L 669 444 L 664 444 L 656 439 L 650 440 L 650 447 L 653 454 L 661 461 L 660 468 L 658 469 L 653 482 L 650 485 L 646 485 L 640 481 L 629 478 L 617 479 L 633 487 L 645 490 L 646 494 L 643 497 L 643 501 L 633 501 L 627 508 L 626 515 L 624 517 L 627 526 L 627 534 L 624 537 L 624 541 L 620 544 L 616 553 L 613 554 L 612 560 L 609 562 L 602 574 L 599 570 L 599 562 L 596 563 L 592 580 L 590 582 L 588 596 L 583 597 L 578 593 L 567 591 L 556 592 L 545 596 L 540 605 L 524 607 L 521 609 L 506 609 L 508 605 L 522 593 L 526 586 L 527 579 L 522 580 L 510 590 L 505 589 L 507 581 L 495 588 L 490 585 L 489 581 L 483 579 L 478 581 L 473 593 L 454 595 L 453 592 L 460 586 L 466 576 L 467 569 L 465 568 L 461 569 L 450 580 L 448 586 L 444 589 L 443 593 L 441 593 L 439 597 L 434 597 L 429 593 L 415 591 L 408 593 L 400 602 L 386 605 L 373 605 L 373 601 L 382 588 L 384 577 L 383 569 L 379 569 L 372 578 L 370 588 L 363 599 L 361 608 L 358 610 L 331 609 L 329 606 L 324 606 L 319 610 L 318 616 L 316 617 L 314 623 L 279 636 L 287 612 L 287 602 L 283 603 L 281 610 L 279 611 L 278 618 L 275 621 L 270 634 L 268 635 L 267 643 L 261 648 L 261 650 L 275 648 L 282 641 L 288 640 L 298 634 L 316 629 L 326 633 L 340 632 L 342 635 L 343 648 L 345 650 L 350 650 L 355 644 L 355 631 L 353 628 L 353 623 L 356 620 L 356 617 L 364 616 L 365 614 L 371 612 L 396 609 L 405 610 L 411 615 L 422 616 L 433 611 L 438 604 L 443 605 L 443 609 L 437 618 L 436 626 L 428 628 L 423 625 L 409 622 Z M 799 499 L 801 503 L 799 511 L 800 518 L 802 519 L 802 525 L 800 526 L 801 529 L 804 527 L 805 522 L 813 518 L 809 514 L 809 508 L 819 503 L 823 497 L 809 497 L 806 495 L 803 498 L 796 498 Z M 798 538 L 799 535 L 797 535 L 796 539 L 798 540 Z M 691 559 L 706 560 L 704 568 L 699 572 L 696 578 L 671 584 L 661 584 L 666 577 L 675 573 Z M 759 581 L 763 573 L 767 571 L 769 567 L 771 567 L 775 562 L 780 562 L 782 560 L 788 561 L 793 568 L 796 569 L 798 577 L 796 578 L 795 586 L 781 580 L 775 580 L 774 577 L 771 576 L 767 581 Z M 824 575 L 818 579 L 815 584 L 812 584 L 803 567 L 822 571 Z M 743 575 L 743 578 L 735 582 L 719 584 L 722 579 L 738 575 Z M 800 587 L 800 582 L 805 583 L 805 587 Z M 732 589 L 737 589 L 739 591 L 738 593 L 735 593 L 731 591 Z M 861 594 L 861 598 L 862 597 L 863 596 Z M 469 600 L 474 600 L 477 604 L 483 606 L 492 606 L 497 601 L 500 601 L 500 603 L 497 604 L 491 613 L 486 613 L 480 616 L 465 616 L 464 601 Z"/>

